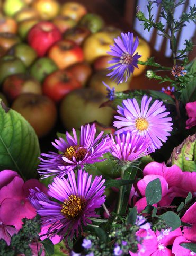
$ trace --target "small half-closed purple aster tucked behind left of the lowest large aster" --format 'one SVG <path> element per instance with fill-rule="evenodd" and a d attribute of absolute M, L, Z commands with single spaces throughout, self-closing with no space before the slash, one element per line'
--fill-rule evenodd
<path fill-rule="evenodd" d="M 37 191 L 34 189 L 30 189 L 30 193 L 28 196 L 28 200 L 30 201 L 31 205 L 36 209 L 39 210 L 42 206 L 39 204 L 39 201 L 45 201 L 47 202 L 49 200 L 49 197 L 41 192 L 41 190 L 39 188 L 37 188 Z"/>

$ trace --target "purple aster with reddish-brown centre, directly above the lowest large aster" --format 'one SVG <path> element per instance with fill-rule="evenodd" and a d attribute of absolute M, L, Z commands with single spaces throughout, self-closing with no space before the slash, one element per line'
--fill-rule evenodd
<path fill-rule="evenodd" d="M 81 136 L 78 142 L 75 129 L 73 137 L 66 132 L 66 140 L 59 138 L 52 143 L 62 154 L 49 152 L 49 154 L 41 154 L 47 159 L 40 158 L 41 163 L 38 170 L 40 174 L 44 174 L 44 178 L 51 175 L 57 175 L 59 178 L 65 176 L 67 172 L 75 167 L 83 168 L 84 164 L 93 164 L 94 162 L 104 161 L 99 159 L 103 154 L 109 151 L 111 140 L 104 137 L 103 131 L 95 138 L 96 128 L 93 124 L 81 126 Z"/>

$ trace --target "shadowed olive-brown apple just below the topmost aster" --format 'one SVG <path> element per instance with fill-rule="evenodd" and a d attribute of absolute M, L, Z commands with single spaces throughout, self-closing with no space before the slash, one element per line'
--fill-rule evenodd
<path fill-rule="evenodd" d="M 88 82 L 88 86 L 103 93 L 105 96 L 107 95 L 108 91 L 106 90 L 106 87 L 102 83 L 102 81 L 105 82 L 111 89 L 114 87 L 116 92 L 123 92 L 129 90 L 129 83 L 131 81 L 131 77 L 126 83 L 123 82 L 117 85 L 117 82 L 112 81 L 112 78 L 107 76 L 107 74 L 109 73 L 109 70 L 97 71 L 93 76 L 91 76 L 90 81 Z"/>

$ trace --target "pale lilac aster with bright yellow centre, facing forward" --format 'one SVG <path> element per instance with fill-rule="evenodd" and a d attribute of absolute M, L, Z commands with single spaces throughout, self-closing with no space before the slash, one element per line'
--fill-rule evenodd
<path fill-rule="evenodd" d="M 164 112 L 165 106 L 162 101 L 155 100 L 149 108 L 152 98 L 143 96 L 141 100 L 141 110 L 135 98 L 122 101 L 122 106 L 118 106 L 118 113 L 121 116 L 114 116 L 119 121 L 114 121 L 114 126 L 120 130 L 115 133 L 124 133 L 130 131 L 131 134 L 136 133 L 139 136 L 150 138 L 152 144 L 150 147 L 155 149 L 162 146 L 162 142 L 166 142 L 167 137 L 172 131 L 170 121 L 171 117 L 166 117 L 170 112 Z M 162 142 L 161 142 L 162 141 Z"/>

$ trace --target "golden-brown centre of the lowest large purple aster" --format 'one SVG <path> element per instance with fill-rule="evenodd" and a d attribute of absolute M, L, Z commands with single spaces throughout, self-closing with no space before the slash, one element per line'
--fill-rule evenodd
<path fill-rule="evenodd" d="M 83 213 L 86 207 L 86 200 L 81 196 L 70 195 L 69 200 L 65 200 L 62 204 L 61 213 L 66 216 L 67 219 L 76 219 Z"/>

